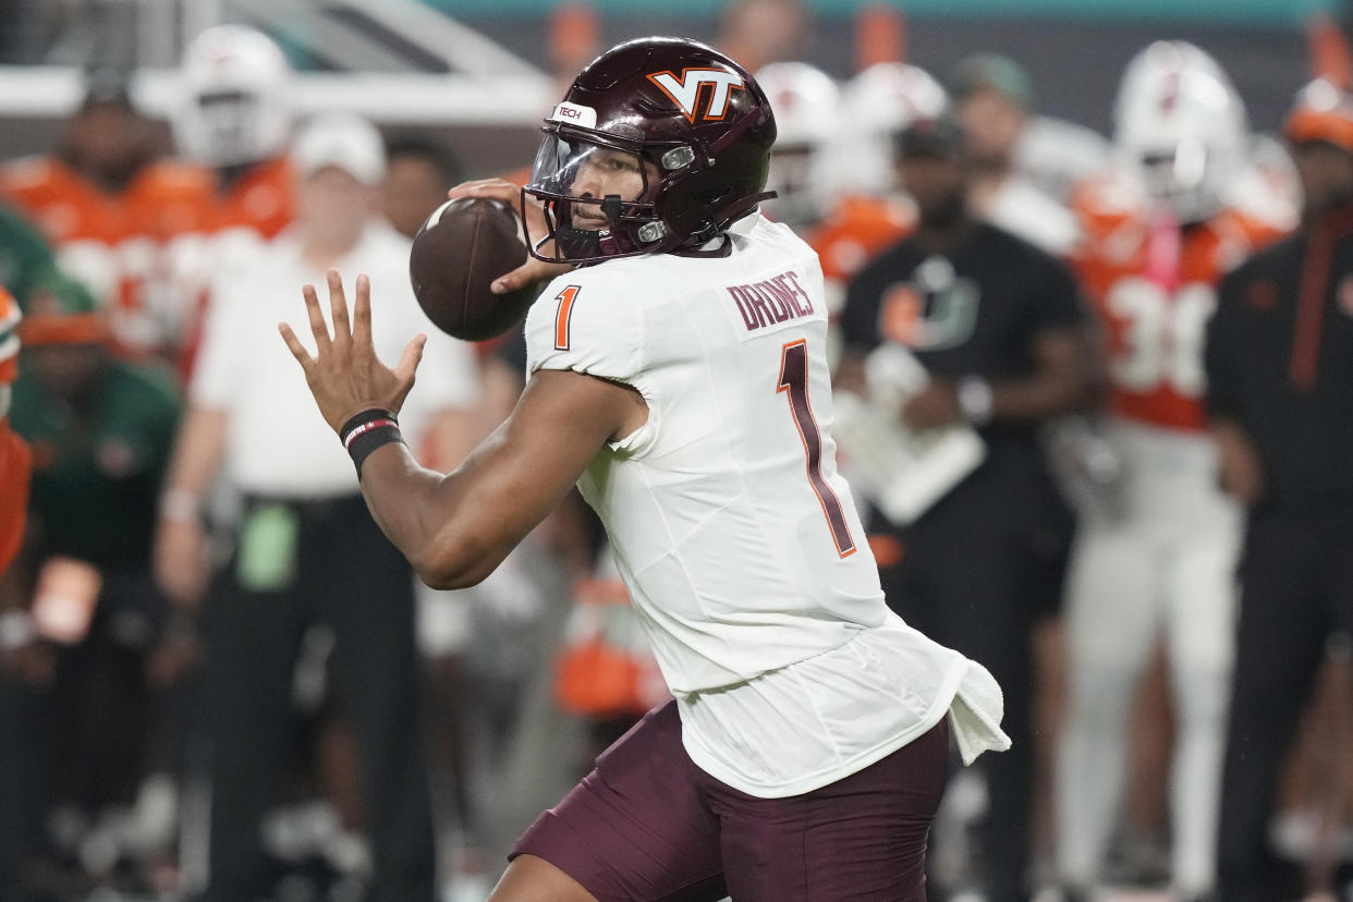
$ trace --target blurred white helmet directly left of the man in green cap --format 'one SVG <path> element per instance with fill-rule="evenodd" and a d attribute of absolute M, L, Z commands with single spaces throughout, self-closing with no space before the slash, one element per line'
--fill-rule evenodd
<path fill-rule="evenodd" d="M 846 188 L 866 195 L 893 191 L 894 135 L 917 119 L 938 119 L 947 104 L 944 88 L 905 62 L 878 62 L 851 78 L 843 92 L 846 128 L 838 153 Z"/>

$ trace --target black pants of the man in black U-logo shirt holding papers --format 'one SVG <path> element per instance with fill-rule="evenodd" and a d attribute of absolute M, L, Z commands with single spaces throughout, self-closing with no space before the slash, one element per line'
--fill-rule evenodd
<path fill-rule="evenodd" d="M 1032 749 L 1032 629 L 1055 609 L 1074 522 L 1046 471 L 984 465 L 911 529 L 881 568 L 889 606 L 936 642 L 986 667 L 1005 695 L 1012 746 L 978 761 L 988 810 L 978 842 L 988 898 L 1027 899 Z M 1043 737 L 1043 741 L 1050 737 Z"/>

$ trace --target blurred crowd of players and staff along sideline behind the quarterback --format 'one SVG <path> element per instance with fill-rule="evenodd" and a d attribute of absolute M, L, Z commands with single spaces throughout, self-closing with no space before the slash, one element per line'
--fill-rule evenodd
<path fill-rule="evenodd" d="M 763 211 L 821 258 L 889 603 L 1005 691 L 932 898 L 1349 893 L 1349 54 L 1260 134 L 1157 42 L 1101 137 L 885 26 L 844 80 L 793 0 L 717 43 L 775 111 Z M 415 584 L 276 325 L 363 272 L 395 360 L 434 333 L 411 237 L 529 160 L 302 118 L 244 26 L 184 51 L 170 145 L 126 77 L 0 165 L 0 902 L 482 899 L 662 678 L 576 496 L 480 586 Z M 433 337 L 402 426 L 449 471 L 525 348 Z"/>

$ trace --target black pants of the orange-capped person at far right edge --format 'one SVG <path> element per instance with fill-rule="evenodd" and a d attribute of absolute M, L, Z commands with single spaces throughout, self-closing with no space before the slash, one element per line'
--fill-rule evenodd
<path fill-rule="evenodd" d="M 1235 678 L 1222 772 L 1223 902 L 1303 894 L 1269 848 L 1283 759 L 1331 633 L 1353 633 L 1353 511 L 1257 515 L 1241 561 Z"/>

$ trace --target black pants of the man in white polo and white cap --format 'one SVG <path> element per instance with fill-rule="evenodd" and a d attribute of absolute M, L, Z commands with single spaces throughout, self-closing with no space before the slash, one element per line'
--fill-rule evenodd
<path fill-rule="evenodd" d="M 208 602 L 211 852 L 204 898 L 264 895 L 258 828 L 294 736 L 291 688 L 300 641 L 310 625 L 323 622 L 334 630 L 340 701 L 357 734 L 375 859 L 372 902 L 432 902 L 413 573 L 360 496 L 285 507 L 299 523 L 287 586 L 249 591 L 233 561 Z"/>

